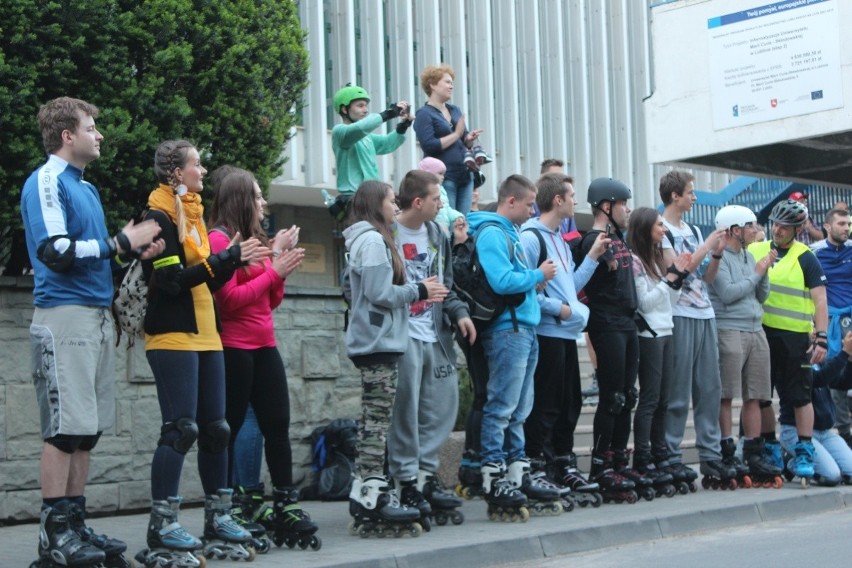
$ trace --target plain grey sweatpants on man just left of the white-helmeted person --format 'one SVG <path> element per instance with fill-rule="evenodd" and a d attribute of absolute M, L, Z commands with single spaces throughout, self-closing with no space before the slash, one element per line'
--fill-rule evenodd
<path fill-rule="evenodd" d="M 680 444 L 686 429 L 689 399 L 695 423 L 695 446 L 701 461 L 721 459 L 719 407 L 719 348 L 716 320 L 674 317 L 674 373 L 669 382 L 666 445 L 671 461 L 680 462 Z"/>

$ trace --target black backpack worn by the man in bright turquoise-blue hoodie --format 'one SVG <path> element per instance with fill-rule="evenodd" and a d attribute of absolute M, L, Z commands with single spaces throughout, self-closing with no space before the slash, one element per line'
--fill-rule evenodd
<path fill-rule="evenodd" d="M 526 294 L 497 294 L 488 284 L 485 270 L 479 263 L 476 251 L 476 241 L 482 230 L 494 225 L 499 227 L 506 237 L 509 247 L 509 261 L 515 260 L 515 246 L 511 237 L 499 223 L 483 223 L 472 238 L 455 246 L 453 249 L 453 291 L 467 304 L 468 313 L 477 330 L 487 328 L 497 317 L 507 309 L 512 314 L 512 326 L 518 330 L 518 320 L 515 317 L 515 307 L 521 305 Z"/>

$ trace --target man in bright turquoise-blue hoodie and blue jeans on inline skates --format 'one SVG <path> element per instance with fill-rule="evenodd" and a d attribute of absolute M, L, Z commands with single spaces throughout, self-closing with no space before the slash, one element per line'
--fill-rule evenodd
<path fill-rule="evenodd" d="M 507 463 L 529 469 L 524 451 L 524 420 L 532 408 L 533 372 L 538 361 L 535 328 L 541 321 L 536 286 L 556 275 L 556 264 L 546 259 L 538 268 L 521 247 L 518 226 L 533 211 L 536 189 L 521 175 L 500 185 L 497 211 L 471 213 L 479 262 L 488 284 L 497 294 L 524 294 L 521 304 L 506 310 L 481 335 L 488 360 L 487 397 L 482 417 L 482 485 L 491 507 L 526 503 L 506 479 Z"/>

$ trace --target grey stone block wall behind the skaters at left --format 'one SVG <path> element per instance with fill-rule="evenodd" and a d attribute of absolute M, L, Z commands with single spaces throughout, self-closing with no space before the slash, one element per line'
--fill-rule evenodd
<path fill-rule="evenodd" d="M 360 378 L 343 343 L 344 303 L 336 288 L 323 286 L 333 281 L 333 254 L 326 257 L 328 273 L 316 276 L 322 283 L 311 286 L 307 274 L 288 279 L 306 285 L 288 285 L 275 313 L 290 388 L 298 483 L 310 476 L 311 431 L 332 418 L 360 414 Z M 0 522 L 36 518 L 41 503 L 42 442 L 30 371 L 32 286 L 31 277 L 0 277 Z M 156 388 L 140 343 L 128 350 L 123 340 L 118 354 L 115 431 L 105 433 L 92 453 L 86 491 L 94 511 L 142 509 L 150 503 L 151 456 L 160 427 Z M 187 456 L 181 492 L 190 501 L 203 496 L 194 450 Z"/>

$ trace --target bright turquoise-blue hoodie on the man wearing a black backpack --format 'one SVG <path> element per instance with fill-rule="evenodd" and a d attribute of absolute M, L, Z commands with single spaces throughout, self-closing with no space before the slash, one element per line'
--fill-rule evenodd
<path fill-rule="evenodd" d="M 471 235 L 487 225 L 477 237 L 476 248 L 488 284 L 497 294 L 525 294 L 523 303 L 515 308 L 515 317 L 520 327 L 536 327 L 541 321 L 541 310 L 535 298 L 535 287 L 544 282 L 544 273 L 530 268 L 517 227 L 506 217 L 488 211 L 471 213 L 468 222 Z M 496 223 L 496 226 L 489 223 Z M 511 256 L 506 235 L 514 248 Z M 512 314 L 506 309 L 487 332 L 512 329 L 512 325 Z"/>

